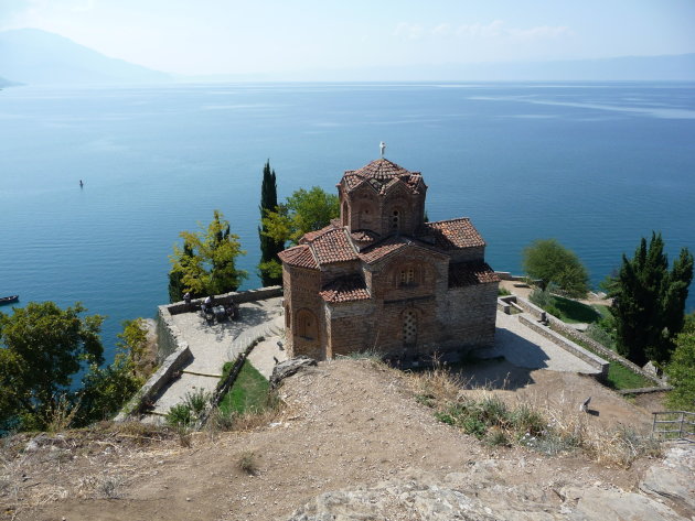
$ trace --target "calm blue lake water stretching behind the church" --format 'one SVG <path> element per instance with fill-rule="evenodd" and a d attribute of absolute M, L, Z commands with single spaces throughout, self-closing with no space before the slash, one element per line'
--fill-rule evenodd
<path fill-rule="evenodd" d="M 109 349 L 167 302 L 179 231 L 214 208 L 258 285 L 268 158 L 280 197 L 333 191 L 382 140 L 423 172 L 430 219 L 473 219 L 494 269 L 547 237 L 595 284 L 652 230 L 695 251 L 693 84 L 23 87 L 0 91 L 0 295 L 82 301 Z"/>

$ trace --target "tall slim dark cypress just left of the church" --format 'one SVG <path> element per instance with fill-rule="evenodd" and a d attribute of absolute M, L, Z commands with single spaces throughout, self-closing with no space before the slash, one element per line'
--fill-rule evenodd
<path fill-rule="evenodd" d="M 264 217 L 269 211 L 278 210 L 278 193 L 275 170 L 270 170 L 270 161 L 266 162 L 263 169 L 263 183 L 260 186 L 260 222 L 258 237 L 260 239 L 260 263 L 258 272 L 263 285 L 275 285 L 282 283 L 282 268 L 278 260 L 278 253 L 285 248 L 285 241 L 272 239 L 268 236 L 268 230 L 263 224 Z"/>

